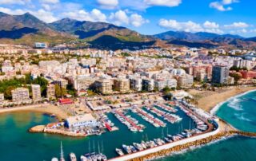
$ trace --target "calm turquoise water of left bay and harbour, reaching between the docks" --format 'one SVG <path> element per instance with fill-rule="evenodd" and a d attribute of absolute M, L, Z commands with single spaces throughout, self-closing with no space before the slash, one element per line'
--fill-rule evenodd
<path fill-rule="evenodd" d="M 146 126 L 144 132 L 130 132 L 128 128 L 120 123 L 113 114 L 108 114 L 110 120 L 120 129 L 116 132 L 106 132 L 102 135 L 90 136 L 87 138 L 72 138 L 62 135 L 50 134 L 32 134 L 27 130 L 34 125 L 47 124 L 56 120 L 50 116 L 42 115 L 34 112 L 18 112 L 0 115 L 0 160 L 14 161 L 38 161 L 50 160 L 54 156 L 59 156 L 60 142 L 62 141 L 66 160 L 70 152 L 80 155 L 92 152 L 102 151 L 108 158 L 117 156 L 114 149 L 121 147 L 123 143 L 132 144 L 141 142 L 142 139 L 154 139 L 166 135 L 167 128 L 154 128 L 153 125 L 142 120 L 137 114 L 129 112 L 131 116 L 136 118 L 140 124 Z M 182 111 L 178 111 L 178 115 L 183 120 L 178 124 L 168 124 L 169 134 L 175 134 L 181 128 L 189 128 L 190 117 Z M 89 146 L 90 145 L 90 146 Z"/>

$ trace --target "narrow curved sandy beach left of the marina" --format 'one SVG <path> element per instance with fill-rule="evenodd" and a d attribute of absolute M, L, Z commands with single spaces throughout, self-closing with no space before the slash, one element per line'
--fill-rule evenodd
<path fill-rule="evenodd" d="M 52 104 L 33 104 L 22 107 L 0 109 L 0 114 L 8 112 L 42 112 L 50 115 L 54 114 L 58 118 L 58 120 L 64 120 L 68 117 L 68 114 L 66 112 Z"/>

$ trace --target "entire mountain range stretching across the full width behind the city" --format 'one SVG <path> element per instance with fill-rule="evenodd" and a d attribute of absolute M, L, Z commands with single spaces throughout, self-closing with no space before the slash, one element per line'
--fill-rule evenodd
<path fill-rule="evenodd" d="M 256 37 L 231 34 L 168 31 L 154 36 L 142 35 L 106 22 L 77 21 L 63 18 L 53 23 L 42 22 L 32 14 L 10 15 L 0 12 L 0 43 L 34 45 L 36 41 L 50 46 L 66 43 L 73 48 L 140 49 L 146 47 L 256 47 Z M 69 43 L 71 42 L 71 43 Z"/>

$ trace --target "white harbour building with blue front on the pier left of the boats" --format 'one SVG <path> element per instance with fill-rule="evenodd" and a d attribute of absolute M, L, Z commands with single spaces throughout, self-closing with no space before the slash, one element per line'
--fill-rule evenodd
<path fill-rule="evenodd" d="M 81 116 L 70 116 L 65 121 L 67 128 L 95 127 L 98 121 L 90 113 Z"/>

